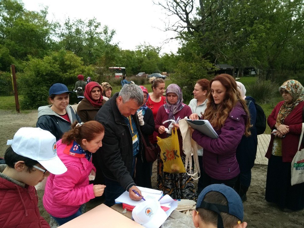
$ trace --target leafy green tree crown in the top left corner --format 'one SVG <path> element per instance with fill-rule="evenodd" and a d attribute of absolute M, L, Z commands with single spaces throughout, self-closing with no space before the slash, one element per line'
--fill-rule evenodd
<path fill-rule="evenodd" d="M 15 59 L 27 55 L 43 57 L 51 48 L 53 25 L 46 19 L 47 8 L 27 11 L 16 0 L 0 2 L 0 44 L 9 49 Z"/>

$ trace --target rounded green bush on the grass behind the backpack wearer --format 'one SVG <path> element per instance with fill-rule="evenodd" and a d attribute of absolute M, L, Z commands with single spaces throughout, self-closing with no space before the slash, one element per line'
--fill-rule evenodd
<path fill-rule="evenodd" d="M 257 79 L 254 84 L 246 86 L 246 95 L 252 96 L 257 103 L 271 103 L 275 97 L 280 96 L 279 85 L 269 80 Z"/>

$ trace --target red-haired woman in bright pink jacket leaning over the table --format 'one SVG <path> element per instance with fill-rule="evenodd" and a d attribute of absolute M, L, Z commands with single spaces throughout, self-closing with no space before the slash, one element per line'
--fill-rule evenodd
<path fill-rule="evenodd" d="M 104 127 L 97 121 L 72 124 L 57 141 L 57 154 L 67 167 L 61 175 L 50 174 L 45 186 L 43 206 L 59 225 L 81 215 L 80 206 L 101 196 L 105 185 L 89 184 L 95 176 L 92 153 L 102 146 Z"/>

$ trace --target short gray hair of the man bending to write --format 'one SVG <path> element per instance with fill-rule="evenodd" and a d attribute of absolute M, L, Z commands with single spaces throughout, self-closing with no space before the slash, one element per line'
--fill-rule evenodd
<path fill-rule="evenodd" d="M 123 103 L 133 99 L 135 102 L 137 102 L 138 106 L 143 104 L 143 91 L 138 85 L 124 85 L 119 92 L 119 96 L 122 97 Z"/>

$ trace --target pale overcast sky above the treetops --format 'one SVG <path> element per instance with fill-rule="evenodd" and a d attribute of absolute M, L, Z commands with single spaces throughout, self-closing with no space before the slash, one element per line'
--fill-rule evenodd
<path fill-rule="evenodd" d="M 161 0 L 164 1 L 164 0 Z M 162 46 L 161 53 L 172 51 L 176 53 L 179 44 L 171 40 L 173 32 L 164 32 L 165 23 L 172 21 L 162 8 L 154 5 L 152 0 L 22 0 L 30 11 L 39 11 L 48 6 L 48 20 L 61 21 L 71 19 L 88 20 L 95 17 L 98 22 L 114 29 L 113 41 L 119 43 L 122 49 L 135 50 L 139 44 Z"/>

